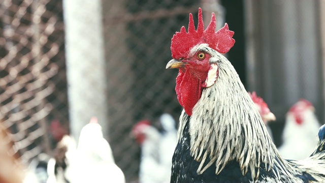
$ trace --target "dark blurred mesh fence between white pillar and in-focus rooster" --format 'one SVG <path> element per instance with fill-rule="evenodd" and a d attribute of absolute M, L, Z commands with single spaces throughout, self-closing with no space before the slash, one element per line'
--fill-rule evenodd
<path fill-rule="evenodd" d="M 155 121 L 165 112 L 178 118 L 177 70 L 165 67 L 171 59 L 172 36 L 188 24 L 188 13 L 195 14 L 199 5 L 187 0 L 128 1 L 104 7 L 110 7 L 104 12 L 110 143 L 117 165 L 127 179 L 135 180 L 140 146 L 128 134 L 144 118 Z"/>

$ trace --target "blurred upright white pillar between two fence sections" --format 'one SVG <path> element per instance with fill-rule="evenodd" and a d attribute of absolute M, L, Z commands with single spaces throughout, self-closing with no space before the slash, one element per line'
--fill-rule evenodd
<path fill-rule="evenodd" d="M 96 116 L 108 137 L 102 1 L 65 0 L 63 15 L 71 133 L 78 140 L 82 127 Z"/>

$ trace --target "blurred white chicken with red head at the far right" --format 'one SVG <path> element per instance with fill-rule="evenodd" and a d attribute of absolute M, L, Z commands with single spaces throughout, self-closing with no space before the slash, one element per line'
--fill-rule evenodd
<path fill-rule="evenodd" d="M 286 159 L 301 160 L 309 157 L 317 145 L 316 134 L 320 124 L 313 105 L 299 100 L 286 114 L 283 144 L 278 148 Z"/>

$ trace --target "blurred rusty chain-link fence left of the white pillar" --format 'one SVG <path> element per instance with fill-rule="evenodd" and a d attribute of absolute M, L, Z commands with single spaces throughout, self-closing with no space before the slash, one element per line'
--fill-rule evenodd
<path fill-rule="evenodd" d="M 0 120 L 26 162 L 51 154 L 49 121 L 68 124 L 62 4 L 0 2 Z"/>

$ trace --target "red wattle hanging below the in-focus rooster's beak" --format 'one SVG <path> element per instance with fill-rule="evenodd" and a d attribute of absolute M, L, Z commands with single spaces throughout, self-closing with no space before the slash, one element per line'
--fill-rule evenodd
<path fill-rule="evenodd" d="M 179 70 L 176 78 L 176 94 L 178 102 L 184 107 L 187 115 L 192 115 L 192 109 L 201 98 L 202 81 L 198 77 L 194 77 L 190 71 L 186 70 L 185 73 Z"/>

